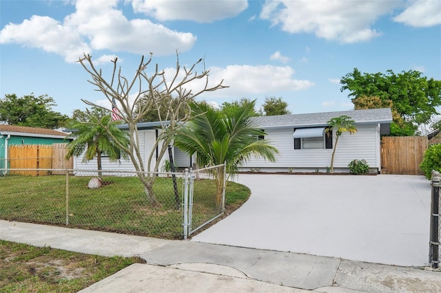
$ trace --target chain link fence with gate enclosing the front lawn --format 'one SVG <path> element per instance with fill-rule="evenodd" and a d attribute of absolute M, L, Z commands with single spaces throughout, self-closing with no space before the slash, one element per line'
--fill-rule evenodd
<path fill-rule="evenodd" d="M 182 239 L 223 213 L 225 200 L 216 197 L 218 173 L 225 182 L 225 165 L 141 176 L 132 171 L 2 169 L 0 219 Z M 140 177 L 153 178 L 152 188 Z M 225 188 L 220 192 L 225 198 Z"/>

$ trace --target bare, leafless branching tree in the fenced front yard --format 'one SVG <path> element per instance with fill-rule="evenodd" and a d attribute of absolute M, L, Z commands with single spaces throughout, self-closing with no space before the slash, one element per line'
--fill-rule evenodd
<path fill-rule="evenodd" d="M 176 72 L 171 80 L 166 80 L 165 71 L 159 70 L 157 64 L 154 67 L 154 73 L 150 76 L 147 75 L 146 70 L 152 63 L 152 53 L 150 53 L 150 58 L 147 61 L 145 61 L 144 56 L 141 57 L 139 67 L 132 79 L 127 79 L 121 75 L 121 67 L 118 68 L 117 61 L 118 58 L 114 58 L 112 61 L 114 63 L 112 76 L 110 80 L 106 80 L 101 69 L 94 67 L 92 56 L 84 54 L 83 58 L 79 58 L 79 63 L 92 77 L 88 82 L 97 87 L 97 91 L 104 94 L 113 107 L 116 107 L 116 113 L 121 120 L 127 124 L 130 143 L 128 146 L 119 144 L 119 147 L 130 157 L 151 204 L 158 205 L 159 203 L 153 192 L 154 172 L 158 172 L 161 158 L 167 151 L 168 144 L 172 142 L 174 131 L 192 118 L 188 103 L 206 91 L 216 91 L 227 86 L 223 85 L 223 80 L 221 80 L 217 85 L 209 87 L 209 70 L 205 69 L 203 58 L 187 68 L 180 65 L 177 52 Z M 196 72 L 198 63 L 203 65 L 201 72 Z M 198 91 L 192 92 L 189 87 L 197 80 L 205 81 L 205 85 Z M 83 102 L 90 106 L 103 108 L 88 100 L 83 100 Z M 163 110 L 163 108 L 167 111 L 161 111 L 161 114 L 158 115 L 159 122 L 161 122 L 161 135 L 158 135 L 147 162 L 143 162 L 137 124 L 143 121 L 143 118 L 151 111 Z M 184 109 L 185 111 L 183 111 Z M 165 113 L 165 116 L 163 113 Z M 182 115 L 182 113 L 185 113 L 185 115 Z M 107 128 L 107 125 L 101 126 Z M 154 162 L 153 158 L 157 148 L 158 155 L 156 162 Z"/>

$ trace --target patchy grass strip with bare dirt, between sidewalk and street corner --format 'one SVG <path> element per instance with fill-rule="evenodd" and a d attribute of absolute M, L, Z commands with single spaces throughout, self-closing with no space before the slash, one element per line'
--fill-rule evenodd
<path fill-rule="evenodd" d="M 145 261 L 0 241 L 0 292 L 77 292 L 132 263 Z"/>

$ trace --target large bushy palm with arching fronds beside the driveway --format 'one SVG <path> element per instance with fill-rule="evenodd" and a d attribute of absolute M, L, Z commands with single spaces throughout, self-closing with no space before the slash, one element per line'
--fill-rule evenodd
<path fill-rule="evenodd" d="M 198 166 L 215 166 L 227 163 L 228 176 L 256 156 L 274 162 L 278 150 L 268 140 L 258 139 L 265 132 L 258 128 L 255 100 L 243 107 L 214 109 L 207 103 L 190 105 L 194 118 L 174 135 L 174 145 L 188 155 L 197 154 Z M 215 175 L 218 186 L 216 202 L 220 204 L 225 174 Z"/>

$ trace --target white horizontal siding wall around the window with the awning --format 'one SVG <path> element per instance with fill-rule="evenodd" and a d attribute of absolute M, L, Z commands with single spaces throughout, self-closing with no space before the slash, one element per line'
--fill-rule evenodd
<path fill-rule="evenodd" d="M 354 159 L 365 159 L 371 168 L 380 169 L 380 134 L 378 124 L 357 126 L 357 132 L 349 135 L 342 133 L 334 158 L 334 168 L 347 169 Z M 333 149 L 294 149 L 294 127 L 291 129 L 267 129 L 265 139 L 271 140 L 280 152 L 277 162 L 268 162 L 254 158 L 243 166 L 247 169 L 320 169 L 326 170 L 331 165 Z M 333 147 L 336 144 L 336 133 L 333 133 Z M 261 170 L 263 171 L 263 170 Z"/>

